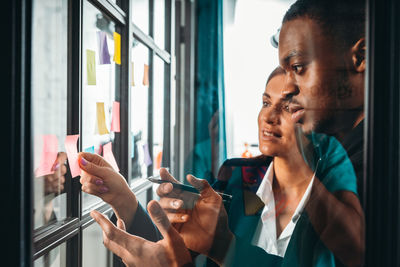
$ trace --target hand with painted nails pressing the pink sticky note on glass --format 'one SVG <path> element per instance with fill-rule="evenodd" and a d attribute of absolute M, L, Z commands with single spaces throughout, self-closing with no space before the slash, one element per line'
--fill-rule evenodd
<path fill-rule="evenodd" d="M 79 153 L 82 191 L 110 204 L 116 216 L 129 227 L 138 207 L 135 194 L 125 178 L 101 156 Z"/>

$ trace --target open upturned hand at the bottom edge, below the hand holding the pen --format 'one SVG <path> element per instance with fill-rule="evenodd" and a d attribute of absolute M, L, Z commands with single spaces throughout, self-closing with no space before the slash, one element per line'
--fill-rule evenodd
<path fill-rule="evenodd" d="M 103 230 L 104 245 L 126 266 L 193 266 L 182 237 L 171 226 L 157 201 L 150 201 L 147 210 L 164 237 L 158 242 L 128 234 L 122 220 L 117 221 L 117 228 L 98 211 L 90 215 Z"/>

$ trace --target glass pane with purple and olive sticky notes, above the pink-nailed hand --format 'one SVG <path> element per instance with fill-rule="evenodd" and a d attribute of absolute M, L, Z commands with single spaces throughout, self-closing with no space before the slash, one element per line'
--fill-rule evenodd
<path fill-rule="evenodd" d="M 112 107 L 117 81 L 114 62 L 115 24 L 93 5 L 83 5 L 82 45 L 82 150 L 103 156 L 103 146 L 114 142 Z M 117 162 L 118 164 L 118 162 Z M 100 198 L 83 193 L 83 207 Z"/>

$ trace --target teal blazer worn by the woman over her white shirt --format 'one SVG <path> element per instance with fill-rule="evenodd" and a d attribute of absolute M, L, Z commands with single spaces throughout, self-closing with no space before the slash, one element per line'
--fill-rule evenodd
<path fill-rule="evenodd" d="M 341 144 L 322 134 L 311 134 L 314 145 L 313 162 L 318 163 L 316 177 L 328 191 L 347 190 L 357 195 L 353 165 Z M 271 158 L 230 159 L 221 166 L 218 181 L 213 187 L 233 196 L 226 206 L 230 230 L 236 246 L 228 256 L 229 266 L 337 266 L 333 253 L 326 248 L 314 231 L 304 210 L 293 231 L 284 258 L 270 255 L 251 245 L 264 204 L 255 194 Z M 311 163 L 312 165 L 313 163 Z M 315 166 L 314 166 L 315 167 Z"/>

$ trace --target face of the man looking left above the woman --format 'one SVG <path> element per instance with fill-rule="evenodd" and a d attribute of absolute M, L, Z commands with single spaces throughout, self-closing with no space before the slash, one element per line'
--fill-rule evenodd
<path fill-rule="evenodd" d="M 309 18 L 286 22 L 279 37 L 279 61 L 286 71 L 285 91 L 291 99 L 293 118 L 303 131 L 335 134 L 337 113 L 351 96 L 343 55 L 332 38 Z"/>

